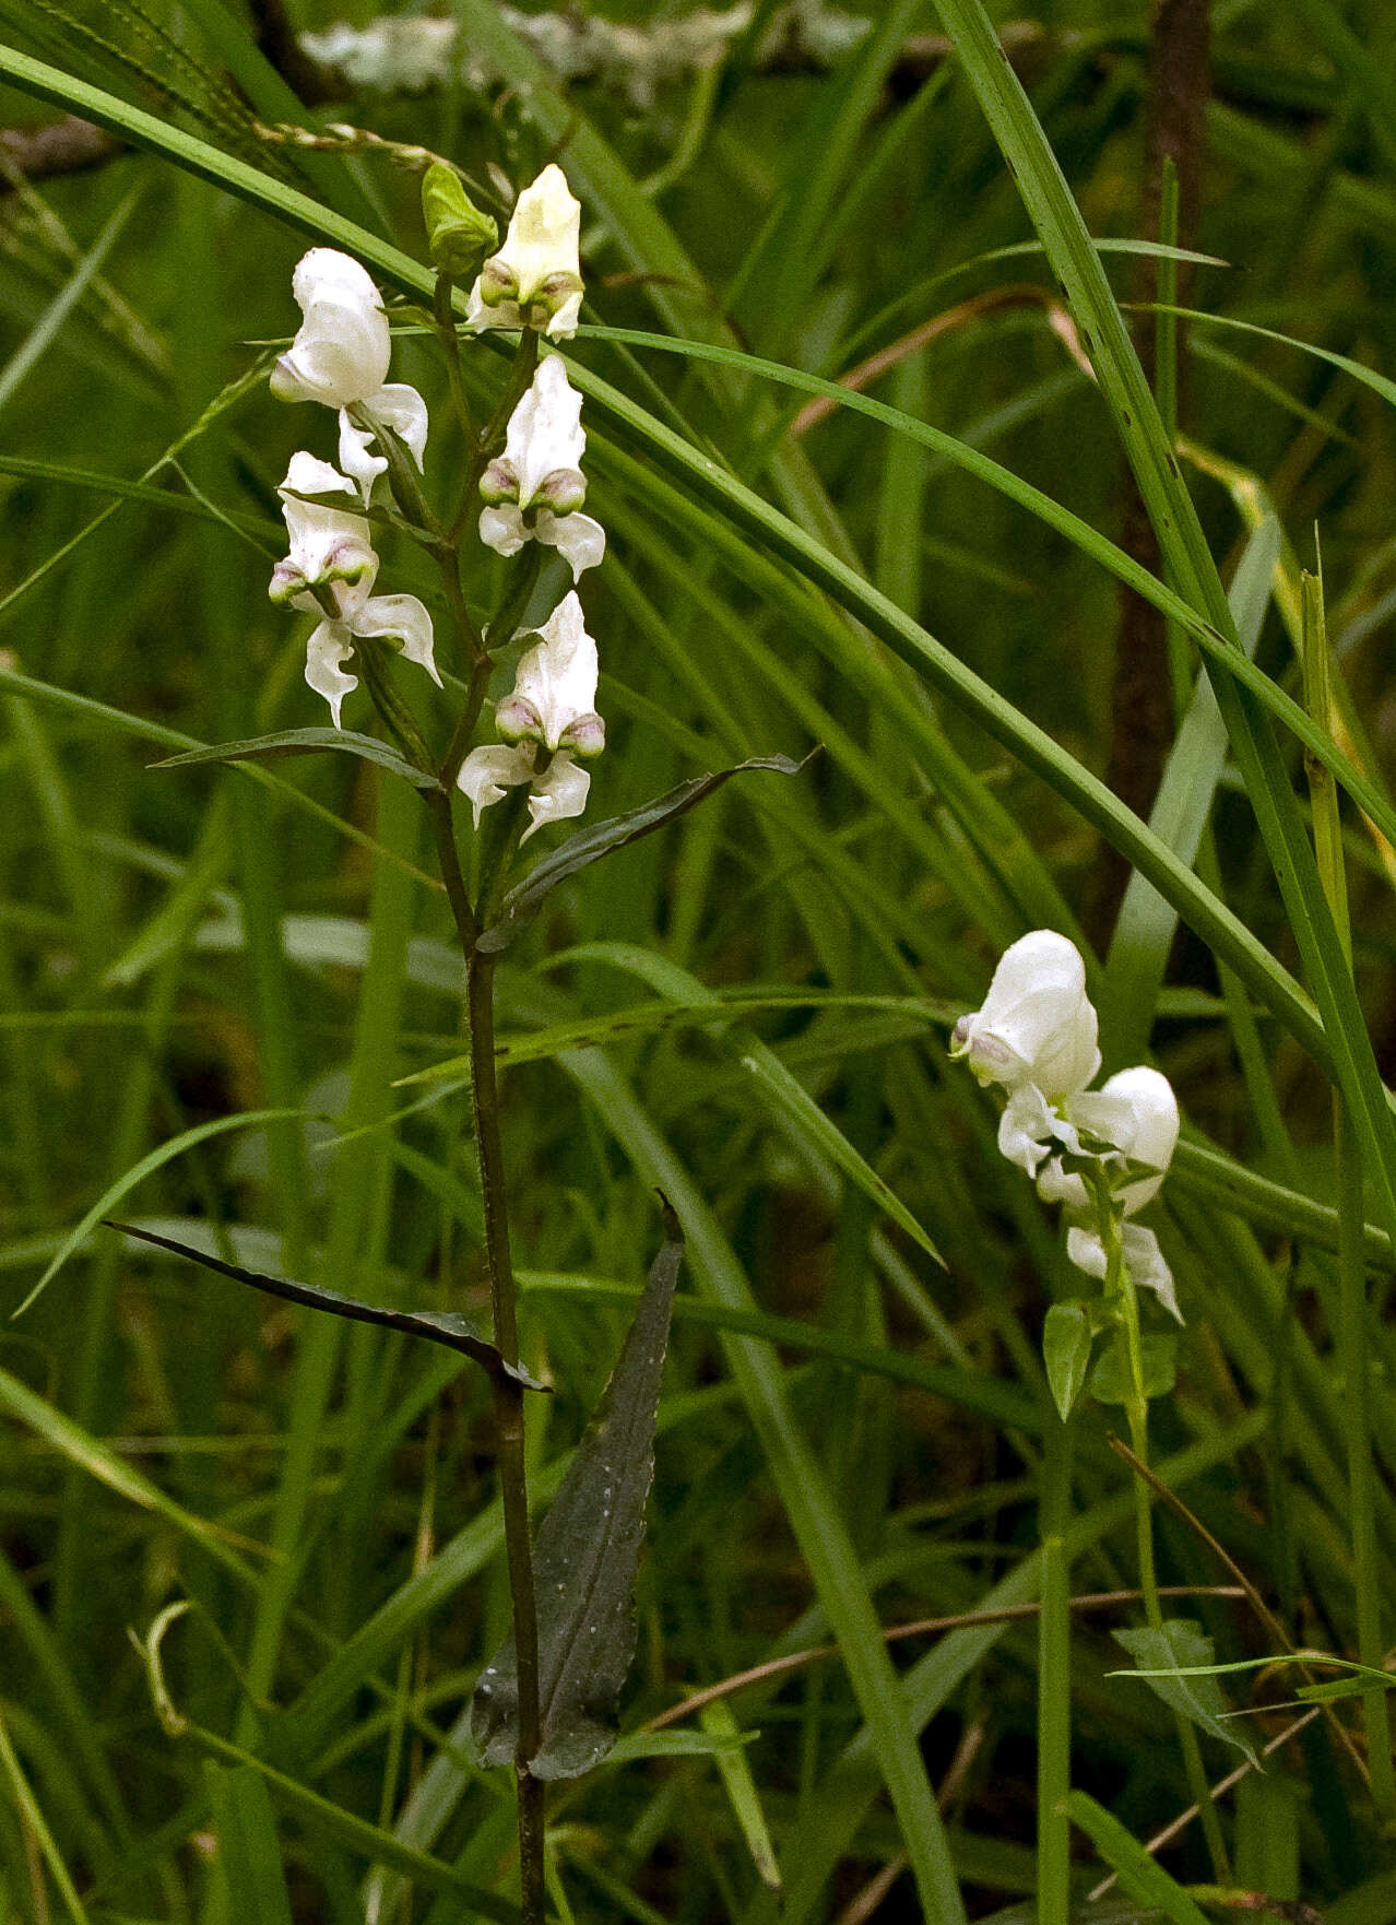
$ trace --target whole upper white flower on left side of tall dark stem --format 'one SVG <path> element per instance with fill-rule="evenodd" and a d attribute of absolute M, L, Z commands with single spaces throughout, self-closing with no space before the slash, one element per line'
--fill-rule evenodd
<path fill-rule="evenodd" d="M 339 464 L 368 500 L 387 460 L 370 454 L 372 427 L 356 427 L 350 408 L 402 437 L 422 466 L 427 439 L 426 402 L 406 381 L 387 381 L 393 343 L 387 314 L 366 268 L 339 248 L 312 246 L 300 256 L 291 293 L 302 321 L 295 341 L 271 370 L 277 400 L 318 400 L 339 408 Z"/>

